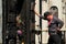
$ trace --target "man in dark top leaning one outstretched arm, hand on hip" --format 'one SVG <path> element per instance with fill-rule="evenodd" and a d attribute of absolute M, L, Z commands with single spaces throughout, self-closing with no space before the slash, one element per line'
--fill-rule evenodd
<path fill-rule="evenodd" d="M 64 22 L 58 18 L 53 16 L 52 13 L 48 11 L 44 13 L 44 16 L 40 15 L 40 13 L 35 11 L 35 9 L 34 12 L 41 19 L 48 21 L 48 34 L 50 34 L 48 44 L 54 44 L 54 43 L 61 44 L 61 37 L 57 34 L 57 32 L 63 28 Z"/>

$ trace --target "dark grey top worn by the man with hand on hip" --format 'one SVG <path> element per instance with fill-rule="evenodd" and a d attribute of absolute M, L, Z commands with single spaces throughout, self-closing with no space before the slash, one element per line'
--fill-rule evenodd
<path fill-rule="evenodd" d="M 41 19 L 44 19 L 43 16 L 40 16 Z M 57 28 L 62 29 L 64 25 L 64 22 L 59 20 L 56 16 L 53 16 L 53 20 L 51 22 L 51 25 L 48 25 L 48 33 L 50 34 L 56 34 L 57 33 Z"/>

